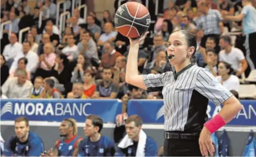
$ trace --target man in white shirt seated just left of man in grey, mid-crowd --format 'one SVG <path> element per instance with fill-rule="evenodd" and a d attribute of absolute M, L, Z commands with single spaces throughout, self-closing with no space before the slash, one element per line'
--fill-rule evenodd
<path fill-rule="evenodd" d="M 69 35 L 67 39 L 68 39 L 67 40 L 68 46 L 65 46 L 62 49 L 62 53 L 68 56 L 69 61 L 73 61 L 79 55 L 78 46 L 74 44 L 75 43 L 74 35 Z"/>

